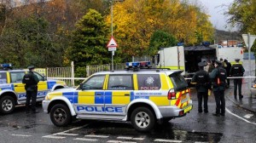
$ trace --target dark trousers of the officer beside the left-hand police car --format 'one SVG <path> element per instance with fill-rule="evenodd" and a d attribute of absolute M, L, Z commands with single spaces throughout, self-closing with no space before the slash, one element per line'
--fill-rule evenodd
<path fill-rule="evenodd" d="M 26 91 L 26 111 L 29 111 L 30 100 L 32 100 L 31 102 L 32 111 L 36 111 L 37 94 L 38 94 L 37 90 Z"/>

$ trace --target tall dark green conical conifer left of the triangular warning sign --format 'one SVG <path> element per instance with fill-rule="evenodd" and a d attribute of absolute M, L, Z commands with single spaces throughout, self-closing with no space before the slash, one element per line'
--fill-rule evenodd
<path fill-rule="evenodd" d="M 96 10 L 90 9 L 76 24 L 73 31 L 73 42 L 68 52 L 69 60 L 76 65 L 78 77 L 84 77 L 87 65 L 100 65 L 109 63 L 110 54 L 106 45 L 108 43 L 108 26 Z"/>

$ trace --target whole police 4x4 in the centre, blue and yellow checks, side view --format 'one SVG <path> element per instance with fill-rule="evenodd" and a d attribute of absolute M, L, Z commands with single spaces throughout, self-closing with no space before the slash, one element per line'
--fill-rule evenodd
<path fill-rule="evenodd" d="M 140 69 L 149 64 L 127 63 L 135 70 L 97 72 L 76 89 L 50 92 L 43 100 L 44 112 L 56 126 L 66 126 L 76 117 L 131 121 L 138 131 L 186 115 L 192 100 L 183 71 Z"/>

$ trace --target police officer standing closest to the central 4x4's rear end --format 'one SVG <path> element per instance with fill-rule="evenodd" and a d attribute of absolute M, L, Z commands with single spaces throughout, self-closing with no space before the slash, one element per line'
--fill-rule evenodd
<path fill-rule="evenodd" d="M 208 94 L 207 91 L 211 87 L 210 86 L 210 77 L 208 72 L 204 71 L 203 67 L 205 66 L 205 63 L 200 62 L 198 63 L 199 70 L 198 72 L 195 72 L 195 75 L 192 77 L 191 83 L 196 84 L 196 90 L 197 90 L 197 99 L 198 99 L 198 112 L 202 112 L 202 98 L 204 99 L 204 112 L 208 112 Z"/>

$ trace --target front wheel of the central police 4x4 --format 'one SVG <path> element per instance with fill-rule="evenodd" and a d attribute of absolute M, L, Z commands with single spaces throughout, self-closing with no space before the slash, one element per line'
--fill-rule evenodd
<path fill-rule="evenodd" d="M 72 117 L 67 106 L 63 104 L 56 104 L 53 106 L 49 113 L 50 120 L 55 126 L 64 127 L 71 123 Z"/>

